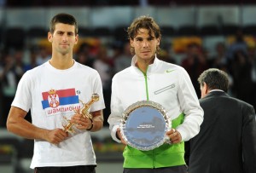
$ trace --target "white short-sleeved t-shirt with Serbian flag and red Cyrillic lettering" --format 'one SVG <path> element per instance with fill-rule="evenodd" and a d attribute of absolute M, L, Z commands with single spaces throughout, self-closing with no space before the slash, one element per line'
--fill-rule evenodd
<path fill-rule="evenodd" d="M 14 107 L 32 113 L 32 124 L 48 129 L 62 128 L 63 118 L 71 118 L 73 108 L 83 107 L 97 93 L 100 100 L 90 107 L 90 112 L 105 108 L 102 82 L 96 70 L 75 62 L 67 70 L 57 70 L 49 61 L 30 71 L 20 79 Z M 60 144 L 35 140 L 31 168 L 44 166 L 73 166 L 96 164 L 90 133 L 77 130 Z"/>

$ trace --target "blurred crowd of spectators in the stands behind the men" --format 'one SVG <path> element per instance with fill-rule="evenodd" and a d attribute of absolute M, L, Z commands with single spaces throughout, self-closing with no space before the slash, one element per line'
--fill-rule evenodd
<path fill-rule="evenodd" d="M 195 86 L 200 98 L 201 91 L 197 78 L 207 68 L 216 67 L 230 75 L 230 95 L 251 103 L 256 108 L 256 52 L 255 46 L 244 41 L 242 32 L 237 32 L 233 43 L 217 43 L 213 54 L 209 54 L 204 45 L 189 43 L 183 55 L 178 58 L 172 53 L 171 45 L 160 45 L 158 57 L 183 66 Z M 2 49 L 0 52 L 0 127 L 5 127 L 11 102 L 21 76 L 27 70 L 48 61 L 50 49 L 42 45 L 32 45 L 29 49 Z M 102 78 L 103 94 L 106 103 L 104 125 L 110 113 L 111 81 L 116 72 L 131 66 L 130 43 L 127 41 L 100 43 L 93 46 L 81 43 L 73 58 L 87 66 L 95 68 Z M 78 74 L 79 75 L 79 74 Z M 27 120 L 31 120 L 28 114 Z"/>

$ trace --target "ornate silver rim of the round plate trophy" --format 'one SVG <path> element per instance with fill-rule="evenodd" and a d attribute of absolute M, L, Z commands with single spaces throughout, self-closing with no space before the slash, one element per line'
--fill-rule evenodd
<path fill-rule="evenodd" d="M 125 112 L 123 112 L 123 119 L 122 119 L 122 122 L 120 125 L 121 135 L 123 136 L 125 142 L 129 146 L 135 147 L 138 150 L 148 151 L 148 150 L 152 150 L 156 147 L 160 147 L 164 142 L 166 142 L 166 137 L 164 137 L 161 141 L 157 142 L 156 144 L 154 144 L 150 147 L 137 146 L 127 139 L 127 137 L 125 136 L 126 121 L 129 118 L 131 112 L 135 111 L 137 108 L 140 108 L 140 107 L 151 107 L 151 108 L 154 108 L 155 110 L 157 110 L 158 112 L 160 112 L 160 114 L 163 116 L 164 121 L 166 123 L 165 131 L 164 131 L 165 134 L 166 134 L 166 131 L 171 129 L 171 121 L 169 120 L 169 118 L 166 115 L 166 109 L 164 107 L 162 107 L 159 103 L 154 102 L 154 101 L 137 101 L 125 109 Z"/>

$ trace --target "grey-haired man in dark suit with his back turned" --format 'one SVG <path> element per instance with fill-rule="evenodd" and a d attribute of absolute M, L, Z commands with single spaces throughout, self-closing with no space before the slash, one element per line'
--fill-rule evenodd
<path fill-rule="evenodd" d="M 198 81 L 204 121 L 189 141 L 189 173 L 255 173 L 253 106 L 226 93 L 229 77 L 224 71 L 208 69 Z"/>

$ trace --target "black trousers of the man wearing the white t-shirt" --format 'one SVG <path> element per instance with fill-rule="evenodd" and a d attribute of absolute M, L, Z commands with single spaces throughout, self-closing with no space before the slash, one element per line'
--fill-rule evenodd
<path fill-rule="evenodd" d="M 96 165 L 37 167 L 34 173 L 96 173 L 95 167 Z"/>

